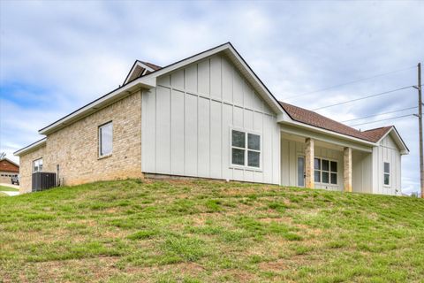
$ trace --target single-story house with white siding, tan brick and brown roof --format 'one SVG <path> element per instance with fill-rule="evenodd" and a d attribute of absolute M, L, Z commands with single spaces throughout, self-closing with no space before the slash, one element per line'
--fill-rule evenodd
<path fill-rule="evenodd" d="M 159 67 L 136 61 L 122 87 L 39 130 L 20 157 L 65 185 L 158 175 L 400 195 L 394 126 L 360 132 L 279 102 L 230 42 Z"/>

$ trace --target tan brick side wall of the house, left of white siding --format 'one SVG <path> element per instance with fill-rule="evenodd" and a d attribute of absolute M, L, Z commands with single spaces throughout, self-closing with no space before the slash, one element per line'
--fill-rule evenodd
<path fill-rule="evenodd" d="M 113 122 L 112 154 L 99 157 L 98 127 Z M 32 161 L 57 172 L 64 185 L 141 178 L 141 93 L 136 92 L 47 136 L 46 146 L 21 156 L 21 193 L 31 191 Z"/>

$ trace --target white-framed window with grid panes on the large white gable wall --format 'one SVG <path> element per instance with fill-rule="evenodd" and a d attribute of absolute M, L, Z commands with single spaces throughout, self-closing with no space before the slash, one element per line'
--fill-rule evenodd
<path fill-rule="evenodd" d="M 231 164 L 260 168 L 261 135 L 232 130 Z"/>

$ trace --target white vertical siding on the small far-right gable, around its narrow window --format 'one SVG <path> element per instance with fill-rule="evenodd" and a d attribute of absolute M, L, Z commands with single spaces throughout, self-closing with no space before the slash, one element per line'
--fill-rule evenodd
<path fill-rule="evenodd" d="M 390 163 L 390 185 L 384 185 L 384 162 Z M 373 193 L 382 195 L 401 194 L 401 154 L 390 134 L 373 149 Z"/>

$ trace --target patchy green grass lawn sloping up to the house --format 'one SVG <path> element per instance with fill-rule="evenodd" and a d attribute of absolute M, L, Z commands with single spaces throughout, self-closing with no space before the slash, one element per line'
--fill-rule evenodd
<path fill-rule="evenodd" d="M 423 282 L 424 200 L 123 180 L 0 198 L 0 281 Z"/>

